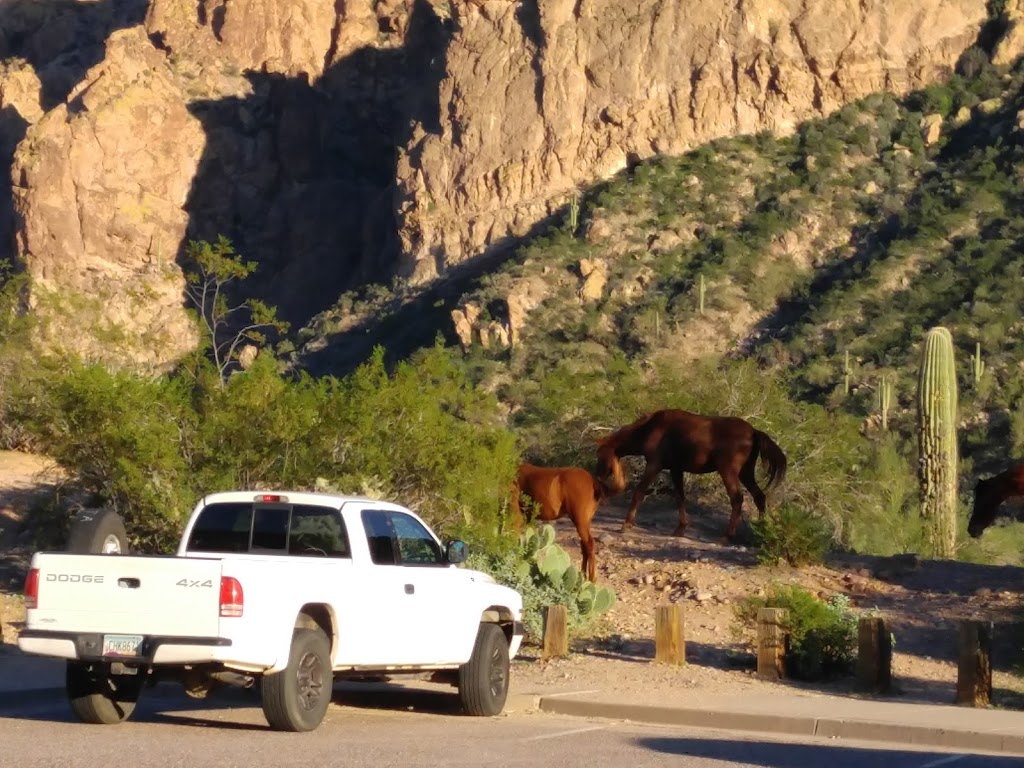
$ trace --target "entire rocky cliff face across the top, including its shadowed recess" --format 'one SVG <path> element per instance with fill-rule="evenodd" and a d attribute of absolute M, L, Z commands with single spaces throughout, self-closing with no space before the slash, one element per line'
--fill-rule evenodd
<path fill-rule="evenodd" d="M 56 337 L 159 366 L 193 343 L 188 239 L 230 237 L 260 264 L 255 291 L 301 324 L 342 290 L 500 247 L 631 161 L 925 84 L 985 14 L 984 0 L 0 0 L 0 258 L 62 312 Z"/>

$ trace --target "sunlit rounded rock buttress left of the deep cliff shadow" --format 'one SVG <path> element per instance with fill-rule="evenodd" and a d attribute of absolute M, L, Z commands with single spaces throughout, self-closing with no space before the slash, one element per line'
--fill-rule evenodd
<path fill-rule="evenodd" d="M 139 27 L 114 33 L 68 103 L 28 129 L 12 179 L 17 251 L 52 342 L 143 366 L 195 345 L 174 254 L 204 142 Z"/>

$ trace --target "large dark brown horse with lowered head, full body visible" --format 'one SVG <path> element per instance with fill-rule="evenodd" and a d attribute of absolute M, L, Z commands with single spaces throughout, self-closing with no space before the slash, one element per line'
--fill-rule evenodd
<path fill-rule="evenodd" d="M 673 409 L 655 411 L 598 440 L 597 477 L 615 494 L 626 490 L 620 462 L 624 456 L 642 456 L 646 461 L 623 521 L 624 531 L 633 525 L 641 500 L 663 469 L 669 470 L 679 501 L 679 525 L 673 536 L 683 536 L 686 529 L 684 472 L 718 472 L 722 476 L 732 504 L 727 539 L 736 535 L 742 516 L 743 492 L 739 484 L 746 486 L 758 513 L 764 514 L 766 493 L 785 478 L 786 459 L 782 450 L 764 432 L 733 416 L 700 416 Z M 768 470 L 764 490 L 754 477 L 759 457 Z"/>

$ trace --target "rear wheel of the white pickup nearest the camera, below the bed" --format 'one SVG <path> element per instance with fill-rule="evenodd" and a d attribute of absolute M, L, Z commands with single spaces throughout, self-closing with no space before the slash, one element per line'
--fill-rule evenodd
<path fill-rule="evenodd" d="M 288 669 L 260 680 L 263 715 L 278 731 L 311 731 L 324 720 L 334 690 L 331 641 L 322 629 L 292 635 Z"/>

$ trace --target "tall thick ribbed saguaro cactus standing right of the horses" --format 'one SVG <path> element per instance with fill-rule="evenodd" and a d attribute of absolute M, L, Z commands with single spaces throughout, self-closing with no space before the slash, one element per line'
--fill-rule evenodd
<path fill-rule="evenodd" d="M 956 368 L 952 336 L 942 327 L 925 335 L 918 379 L 918 446 L 921 514 L 931 522 L 935 554 L 951 557 L 958 484 Z"/>

